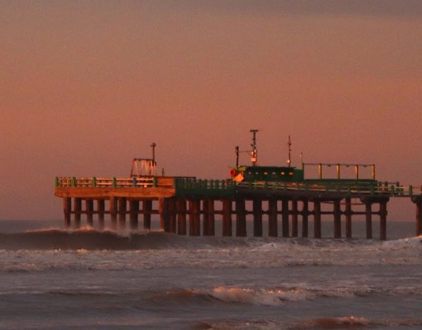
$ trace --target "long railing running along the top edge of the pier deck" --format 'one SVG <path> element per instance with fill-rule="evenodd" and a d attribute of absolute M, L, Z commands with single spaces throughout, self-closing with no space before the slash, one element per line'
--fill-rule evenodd
<path fill-rule="evenodd" d="M 399 182 L 327 180 L 321 182 L 240 182 L 230 179 L 197 179 L 195 177 L 56 177 L 56 187 L 163 187 L 175 188 L 178 196 L 232 196 L 237 189 L 275 191 L 309 191 L 356 195 L 412 197 L 422 195 L 422 186 L 404 186 Z"/>

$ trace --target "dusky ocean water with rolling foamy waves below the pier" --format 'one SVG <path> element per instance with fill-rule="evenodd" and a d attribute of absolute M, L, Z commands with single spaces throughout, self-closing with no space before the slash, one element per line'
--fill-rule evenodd
<path fill-rule="evenodd" d="M 1 221 L 0 327 L 422 329 L 414 222 L 387 222 L 387 241 L 353 226 L 347 240 Z"/>

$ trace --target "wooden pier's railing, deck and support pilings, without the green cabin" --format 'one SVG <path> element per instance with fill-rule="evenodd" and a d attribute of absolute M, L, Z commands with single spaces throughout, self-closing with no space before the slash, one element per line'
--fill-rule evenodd
<path fill-rule="evenodd" d="M 55 195 L 63 198 L 65 226 L 94 224 L 104 229 L 105 215 L 111 229 L 151 229 L 151 215 L 159 215 L 164 231 L 191 236 L 216 234 L 216 215 L 221 217 L 223 236 L 247 236 L 247 215 L 254 221 L 254 236 L 263 236 L 263 216 L 268 220 L 268 236 L 309 235 L 313 218 L 314 237 L 321 238 L 321 216 L 330 215 L 334 238 L 352 238 L 352 216 L 365 215 L 366 238 L 372 239 L 373 215 L 380 217 L 379 238 L 387 238 L 387 202 L 390 198 L 409 198 L 416 204 L 416 235 L 422 234 L 422 188 L 372 180 L 312 180 L 295 183 L 236 183 L 229 179 L 201 180 L 194 177 L 57 177 Z M 95 203 L 94 203 L 95 202 Z M 252 205 L 252 208 L 249 206 Z M 322 206 L 323 205 L 323 206 Z M 357 210 L 357 208 L 364 208 Z M 232 231 L 235 216 L 235 233 Z M 299 217 L 302 228 L 299 233 Z M 342 221 L 345 234 L 342 234 Z"/>

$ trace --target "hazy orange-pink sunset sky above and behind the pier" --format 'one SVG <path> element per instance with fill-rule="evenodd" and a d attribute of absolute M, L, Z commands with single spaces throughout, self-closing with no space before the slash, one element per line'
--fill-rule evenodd
<path fill-rule="evenodd" d="M 420 185 L 421 54 L 419 0 L 0 0 L 0 219 L 61 219 L 54 177 L 128 176 L 152 141 L 228 177 L 251 128 L 261 165 L 290 134 L 296 165 Z"/>

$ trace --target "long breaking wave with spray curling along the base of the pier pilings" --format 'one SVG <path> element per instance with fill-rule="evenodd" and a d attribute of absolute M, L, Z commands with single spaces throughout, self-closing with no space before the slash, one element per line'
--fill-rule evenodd
<path fill-rule="evenodd" d="M 400 250 L 421 246 L 422 236 L 394 241 L 365 239 L 302 239 L 268 237 L 179 236 L 163 231 L 97 231 L 92 227 L 77 230 L 40 229 L 13 234 L 0 233 L 0 249 L 5 250 L 137 250 L 166 248 L 250 248 L 252 252 L 277 250 Z M 318 265 L 318 259 L 316 265 Z"/>

